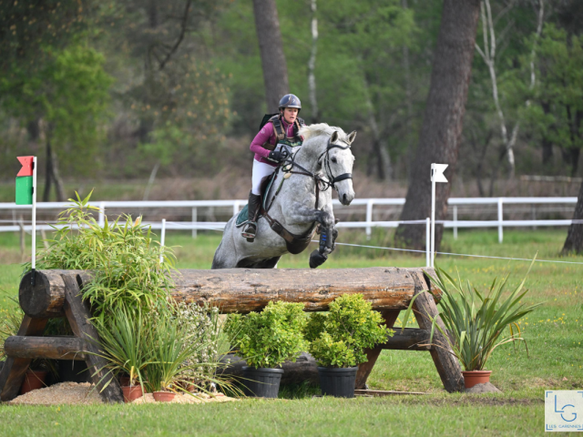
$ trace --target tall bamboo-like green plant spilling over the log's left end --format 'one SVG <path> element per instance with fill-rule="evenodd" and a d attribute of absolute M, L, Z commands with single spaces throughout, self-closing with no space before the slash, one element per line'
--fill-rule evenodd
<path fill-rule="evenodd" d="M 71 207 L 53 226 L 54 238 L 47 240 L 48 248 L 39 250 L 38 269 L 93 270 L 95 278 L 84 288 L 83 299 L 89 300 L 97 317 L 120 307 L 164 307 L 173 287 L 172 249 L 164 248 L 159 262 L 159 242 L 141 224 L 141 217 L 123 215 L 113 222 L 106 217 L 100 226 L 93 217 L 99 208 L 89 205 L 90 197 L 91 193 L 83 199 L 77 194 L 77 200 L 69 199 Z"/>

